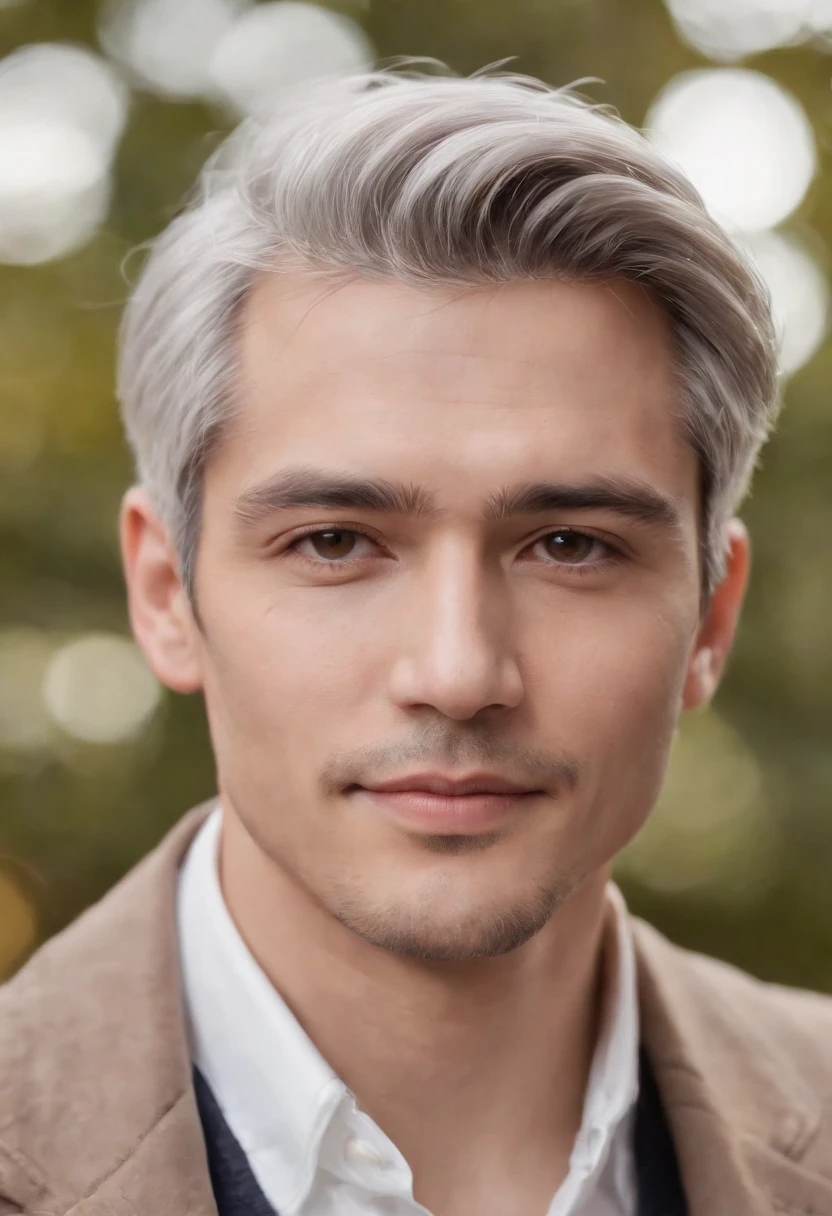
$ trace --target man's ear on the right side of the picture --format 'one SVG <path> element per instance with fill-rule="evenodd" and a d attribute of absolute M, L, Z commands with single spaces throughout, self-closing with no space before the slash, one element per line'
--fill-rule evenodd
<path fill-rule="evenodd" d="M 731 519 L 726 524 L 725 540 L 725 576 L 710 598 L 691 653 L 682 702 L 685 709 L 705 705 L 716 692 L 746 596 L 751 564 L 746 525 L 740 519 Z"/>

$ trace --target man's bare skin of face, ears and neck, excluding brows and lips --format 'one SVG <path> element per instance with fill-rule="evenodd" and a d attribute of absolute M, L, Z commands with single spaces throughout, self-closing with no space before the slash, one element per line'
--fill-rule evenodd
<path fill-rule="evenodd" d="M 421 1203 L 544 1214 L 580 1122 L 609 863 L 719 682 L 744 530 L 703 614 L 671 334 L 634 285 L 264 277 L 240 355 L 198 625 L 144 491 L 122 513 L 135 635 L 159 680 L 204 694 L 226 902 Z M 423 488 L 433 511 L 258 511 L 288 468 Z M 483 510 L 613 480 L 674 522 Z M 437 835 L 350 788 L 427 770 L 538 794 Z"/>

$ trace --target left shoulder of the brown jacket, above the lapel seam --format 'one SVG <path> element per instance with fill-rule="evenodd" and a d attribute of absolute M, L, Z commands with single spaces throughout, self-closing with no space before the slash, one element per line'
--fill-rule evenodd
<path fill-rule="evenodd" d="M 0 986 L 0 1212 L 68 1209 L 187 1091 L 175 889 L 206 814 Z"/>

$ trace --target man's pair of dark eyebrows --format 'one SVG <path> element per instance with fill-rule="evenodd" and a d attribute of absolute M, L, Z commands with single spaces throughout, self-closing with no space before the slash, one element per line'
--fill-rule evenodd
<path fill-rule="evenodd" d="M 423 486 L 303 466 L 281 469 L 259 485 L 243 490 L 234 505 L 234 518 L 241 530 L 248 531 L 281 511 L 300 507 L 370 511 L 417 519 L 445 514 L 437 506 L 435 496 Z M 620 474 L 577 483 L 528 482 L 504 486 L 483 500 L 482 517 L 502 520 L 552 511 L 609 511 L 674 531 L 681 527 L 679 511 L 670 499 L 645 482 Z"/>

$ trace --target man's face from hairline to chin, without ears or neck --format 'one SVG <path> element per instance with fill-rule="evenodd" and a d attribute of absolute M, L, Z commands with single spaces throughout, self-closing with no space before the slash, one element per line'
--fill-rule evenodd
<path fill-rule="evenodd" d="M 669 325 L 618 281 L 265 277 L 238 395 L 196 567 L 226 814 L 376 944 L 512 948 L 643 822 L 696 652 Z M 412 773 L 533 793 L 369 792 Z"/>

